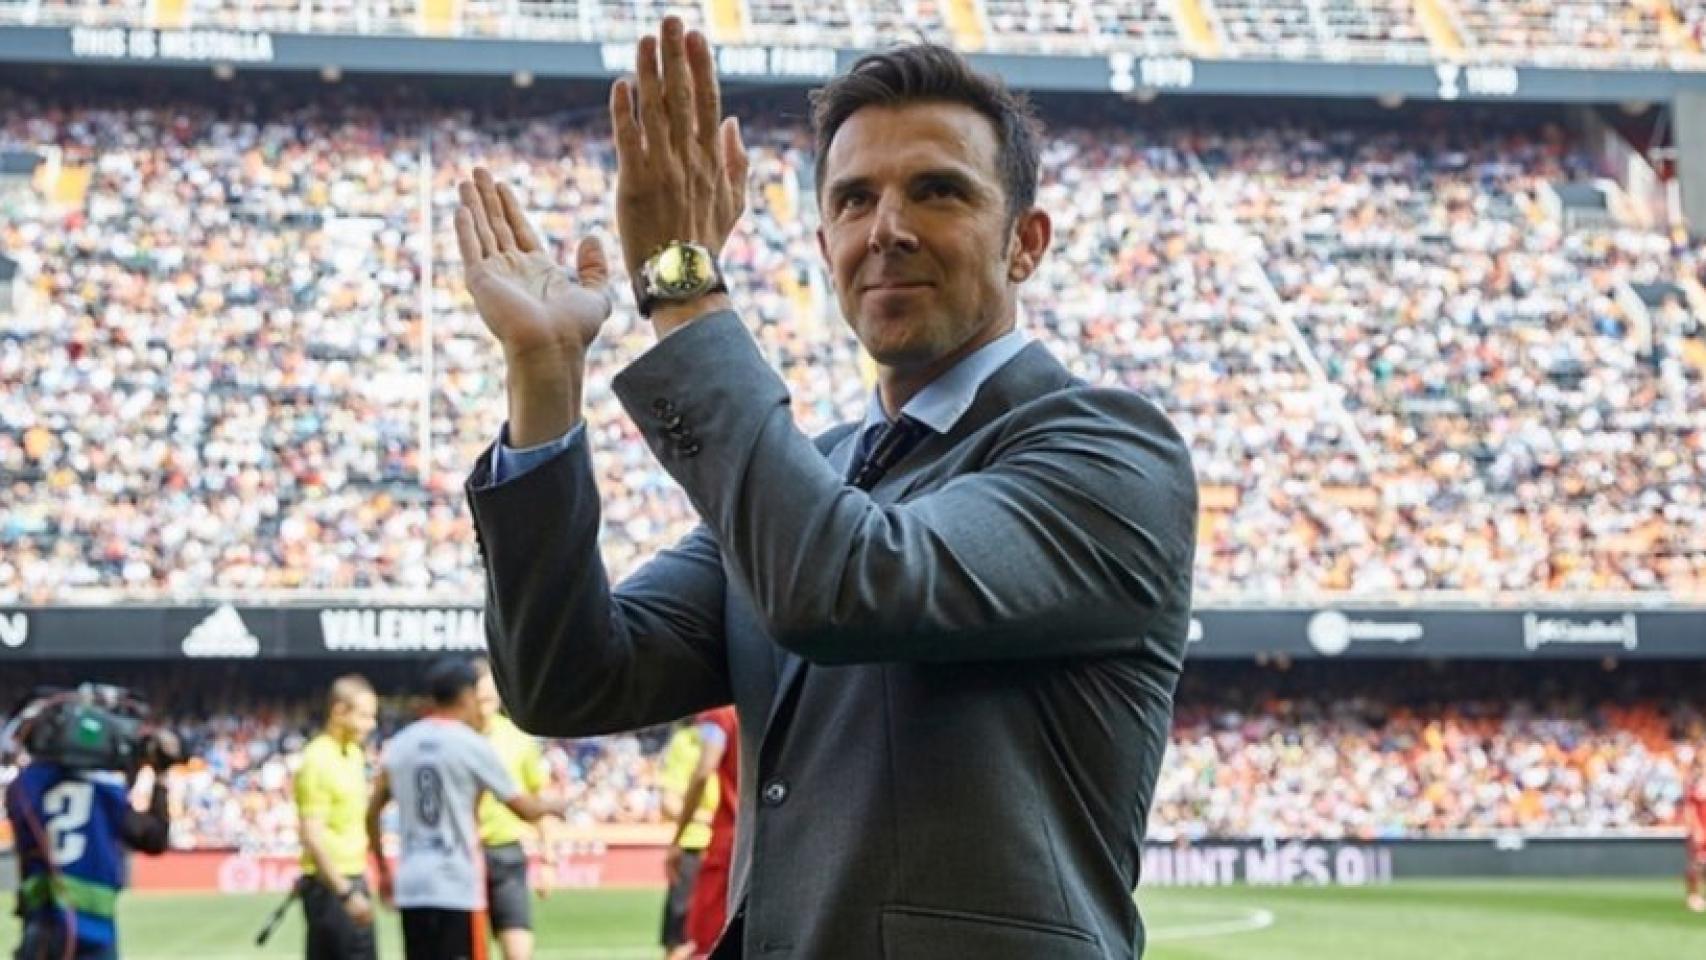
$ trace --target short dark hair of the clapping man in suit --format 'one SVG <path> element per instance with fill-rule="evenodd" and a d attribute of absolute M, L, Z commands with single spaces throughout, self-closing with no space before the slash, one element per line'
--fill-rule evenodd
<path fill-rule="evenodd" d="M 998 77 L 972 70 L 964 56 L 945 46 L 918 43 L 865 55 L 846 73 L 812 90 L 810 97 L 819 189 L 829 143 L 850 116 L 872 106 L 943 102 L 964 104 L 995 124 L 995 164 L 1007 189 L 1008 222 L 1037 201 L 1042 124 L 1030 101 L 1008 90 Z"/>

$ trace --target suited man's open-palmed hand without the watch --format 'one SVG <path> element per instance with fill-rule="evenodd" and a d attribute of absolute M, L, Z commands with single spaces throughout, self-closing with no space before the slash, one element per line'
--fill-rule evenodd
<path fill-rule="evenodd" d="M 582 239 L 570 276 L 546 252 L 507 184 L 481 167 L 457 193 L 456 246 L 467 292 L 512 372 L 519 363 L 573 363 L 578 377 L 578 361 L 611 315 L 604 246 Z"/>

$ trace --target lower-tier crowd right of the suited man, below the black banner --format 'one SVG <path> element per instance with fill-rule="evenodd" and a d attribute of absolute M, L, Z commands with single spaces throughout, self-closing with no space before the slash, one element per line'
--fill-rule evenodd
<path fill-rule="evenodd" d="M 1680 822 L 1703 735 L 1697 708 L 1655 703 L 1305 696 L 1181 709 L 1150 837 L 1653 830 Z"/>

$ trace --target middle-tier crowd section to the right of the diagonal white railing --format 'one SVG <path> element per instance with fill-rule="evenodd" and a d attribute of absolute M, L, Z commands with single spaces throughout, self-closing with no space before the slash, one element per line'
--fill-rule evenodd
<path fill-rule="evenodd" d="M 1680 297 L 1651 348 L 1619 298 L 1697 273 L 1697 247 L 1544 217 L 1552 184 L 1592 172 L 1556 131 L 1204 147 L 1375 452 L 1378 503 L 1295 505 L 1334 558 L 1317 585 L 1706 593 L 1706 368 Z"/>

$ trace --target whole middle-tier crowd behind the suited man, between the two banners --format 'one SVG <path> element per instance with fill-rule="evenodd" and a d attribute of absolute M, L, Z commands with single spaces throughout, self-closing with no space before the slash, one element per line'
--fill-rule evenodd
<path fill-rule="evenodd" d="M 454 182 L 488 164 L 548 237 L 609 237 L 597 114 L 0 104 L 0 152 L 44 159 L 0 186 L 0 602 L 478 595 L 461 483 L 505 404 Z M 1053 126 L 1024 326 L 1184 431 L 1203 595 L 1706 593 L 1706 259 L 1566 222 L 1593 171 L 1558 130 L 1454 130 Z M 867 387 L 809 138 L 747 138 L 725 266 L 815 430 Z M 604 389 L 650 341 L 623 305 L 589 380 L 618 575 L 693 523 Z"/>

